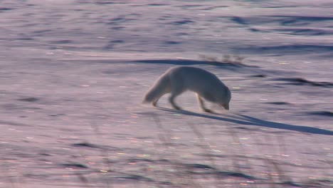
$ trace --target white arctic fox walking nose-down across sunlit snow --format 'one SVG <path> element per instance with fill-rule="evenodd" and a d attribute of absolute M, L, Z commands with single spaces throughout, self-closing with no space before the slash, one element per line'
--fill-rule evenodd
<path fill-rule="evenodd" d="M 152 105 L 156 106 L 162 95 L 171 93 L 169 102 L 174 109 L 181 110 L 174 100 L 176 96 L 186 90 L 196 93 L 201 109 L 207 113 L 212 113 L 213 111 L 205 107 L 203 99 L 229 110 L 229 102 L 231 100 L 229 88 L 213 73 L 191 66 L 169 68 L 149 88 L 146 95 L 144 95 L 142 103 L 152 103 Z"/>

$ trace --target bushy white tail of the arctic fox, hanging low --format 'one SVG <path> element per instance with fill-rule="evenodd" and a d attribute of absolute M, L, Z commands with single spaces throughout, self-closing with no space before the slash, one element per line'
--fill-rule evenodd
<path fill-rule="evenodd" d="M 144 95 L 142 103 L 155 103 L 159 98 L 162 97 L 165 93 L 170 92 L 170 79 L 169 75 L 161 75 L 157 81 L 152 85 L 151 88 Z"/>

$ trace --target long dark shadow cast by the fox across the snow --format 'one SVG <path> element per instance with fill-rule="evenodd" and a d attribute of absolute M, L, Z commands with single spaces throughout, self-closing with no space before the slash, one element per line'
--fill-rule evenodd
<path fill-rule="evenodd" d="M 255 125 L 260 127 L 270 127 L 275 129 L 282 129 L 282 130 L 294 130 L 297 132 L 305 132 L 310 134 L 317 134 L 317 135 L 333 135 L 333 131 L 331 130 L 324 130 L 319 129 L 316 127 L 307 127 L 302 125 L 289 125 L 281 122 L 273 122 L 273 121 L 267 121 L 267 120 L 260 120 L 255 117 L 250 117 L 248 115 L 240 115 L 236 114 L 235 116 L 226 115 L 226 117 L 217 116 L 221 115 L 218 113 L 212 113 L 212 115 L 208 114 L 201 114 L 201 113 L 194 113 L 187 110 L 173 110 L 169 108 L 161 108 L 158 107 L 159 110 L 164 110 L 172 113 L 179 113 L 184 115 L 194 115 L 197 117 L 204 117 L 209 118 L 212 120 L 221 120 L 221 121 L 227 121 L 227 122 L 235 122 L 241 125 Z"/>

